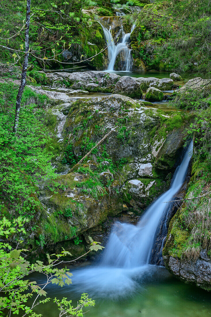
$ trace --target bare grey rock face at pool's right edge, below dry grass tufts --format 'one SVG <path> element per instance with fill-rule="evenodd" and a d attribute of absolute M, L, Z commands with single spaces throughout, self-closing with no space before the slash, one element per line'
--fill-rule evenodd
<path fill-rule="evenodd" d="M 205 250 L 201 250 L 196 262 L 181 261 L 173 256 L 163 256 L 163 259 L 169 272 L 181 281 L 211 290 L 211 263 Z"/>

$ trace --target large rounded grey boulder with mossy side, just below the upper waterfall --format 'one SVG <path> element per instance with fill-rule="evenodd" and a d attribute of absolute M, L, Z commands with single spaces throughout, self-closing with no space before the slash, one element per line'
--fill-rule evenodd
<path fill-rule="evenodd" d="M 142 90 L 140 85 L 133 78 L 123 76 L 114 88 L 114 94 L 122 94 L 131 98 L 141 98 Z"/>

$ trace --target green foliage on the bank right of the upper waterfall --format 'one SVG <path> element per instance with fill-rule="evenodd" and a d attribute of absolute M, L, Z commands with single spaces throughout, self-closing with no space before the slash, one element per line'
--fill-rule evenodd
<path fill-rule="evenodd" d="M 211 60 L 210 7 L 206 0 L 155 1 L 139 13 L 137 51 L 153 68 L 163 71 L 207 73 Z M 134 47 L 135 48 L 135 47 Z"/>

